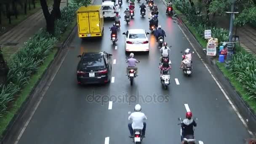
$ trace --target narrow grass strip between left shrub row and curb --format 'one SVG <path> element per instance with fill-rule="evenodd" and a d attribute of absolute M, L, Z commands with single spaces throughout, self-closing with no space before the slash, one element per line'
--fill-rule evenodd
<path fill-rule="evenodd" d="M 61 36 L 61 42 L 66 40 L 69 34 L 72 32 L 73 28 L 76 24 L 76 19 L 73 20 L 72 24 L 67 28 L 67 31 Z M 43 77 L 43 73 L 47 69 L 48 65 L 53 61 L 57 48 L 54 48 L 53 51 L 49 54 L 49 56 L 44 60 L 44 63 L 39 67 L 38 71 L 30 77 L 29 84 L 25 86 L 25 88 L 18 94 L 16 101 L 13 102 L 13 106 L 9 110 L 9 112 L 4 115 L 3 119 L 0 121 L 0 137 L 3 137 L 3 132 L 7 128 L 10 121 L 13 119 L 14 115 L 19 111 L 21 105 L 28 98 L 29 93 L 37 84 L 38 80 Z"/>

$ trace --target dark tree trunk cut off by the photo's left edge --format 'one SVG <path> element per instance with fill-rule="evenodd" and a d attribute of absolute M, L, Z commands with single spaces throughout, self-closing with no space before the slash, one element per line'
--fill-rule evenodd
<path fill-rule="evenodd" d="M 8 71 L 9 71 L 9 68 L 7 66 L 7 63 L 3 59 L 3 53 L 0 47 L 0 85 L 6 84 Z"/>

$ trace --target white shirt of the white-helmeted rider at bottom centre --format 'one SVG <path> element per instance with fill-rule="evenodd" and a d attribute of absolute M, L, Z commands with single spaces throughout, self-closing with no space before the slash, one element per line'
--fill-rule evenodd
<path fill-rule="evenodd" d="M 143 129 L 143 120 L 147 120 L 147 117 L 142 112 L 133 112 L 128 117 L 128 120 L 133 120 L 133 123 L 131 124 L 133 130 L 134 129 Z"/>

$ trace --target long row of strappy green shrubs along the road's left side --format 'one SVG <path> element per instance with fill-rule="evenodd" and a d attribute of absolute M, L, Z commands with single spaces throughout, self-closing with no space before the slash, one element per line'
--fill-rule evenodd
<path fill-rule="evenodd" d="M 45 29 L 40 29 L 34 37 L 24 43 L 20 51 L 13 54 L 8 61 L 9 72 L 7 84 L 0 85 L 0 117 L 8 112 L 8 107 L 19 96 L 24 86 L 27 85 L 31 75 L 35 74 L 45 58 L 51 53 L 61 34 L 75 18 L 79 5 L 70 3 L 61 9 L 61 19 L 55 22 L 55 33 L 50 35 Z"/>

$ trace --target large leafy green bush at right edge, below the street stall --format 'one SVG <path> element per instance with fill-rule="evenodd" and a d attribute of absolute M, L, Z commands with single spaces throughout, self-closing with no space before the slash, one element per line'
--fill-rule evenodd
<path fill-rule="evenodd" d="M 256 99 L 256 56 L 238 52 L 227 62 L 227 67 L 236 80 L 243 84 L 250 98 Z"/>

